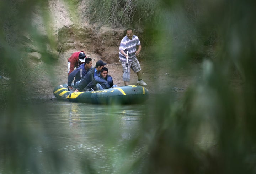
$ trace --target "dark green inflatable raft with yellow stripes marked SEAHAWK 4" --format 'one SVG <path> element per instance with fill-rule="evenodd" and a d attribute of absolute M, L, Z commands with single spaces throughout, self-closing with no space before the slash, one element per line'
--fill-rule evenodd
<path fill-rule="evenodd" d="M 138 104 L 149 97 L 148 89 L 143 86 L 128 85 L 98 91 L 73 92 L 63 84 L 54 88 L 53 94 L 61 100 L 92 104 Z"/>

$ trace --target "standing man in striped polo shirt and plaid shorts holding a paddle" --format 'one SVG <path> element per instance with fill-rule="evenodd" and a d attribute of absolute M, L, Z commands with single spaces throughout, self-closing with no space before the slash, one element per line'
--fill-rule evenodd
<path fill-rule="evenodd" d="M 128 73 L 130 74 L 130 69 L 132 69 L 138 76 L 137 84 L 147 86 L 147 84 L 142 80 L 141 67 L 138 59 L 136 58 L 136 56 L 139 55 L 141 48 L 138 36 L 133 35 L 133 29 L 128 28 L 126 30 L 126 36 L 121 40 L 119 47 L 119 58 L 123 66 L 123 72 L 126 71 L 126 56 L 128 56 Z M 127 55 L 127 51 L 129 55 Z M 129 81 L 124 81 L 124 85 L 128 85 Z"/>

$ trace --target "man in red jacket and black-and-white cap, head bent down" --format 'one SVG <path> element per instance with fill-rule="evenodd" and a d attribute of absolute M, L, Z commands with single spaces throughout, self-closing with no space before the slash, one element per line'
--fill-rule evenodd
<path fill-rule="evenodd" d="M 85 58 L 84 51 L 75 52 L 70 56 L 68 59 L 68 76 L 75 68 L 84 63 Z"/>

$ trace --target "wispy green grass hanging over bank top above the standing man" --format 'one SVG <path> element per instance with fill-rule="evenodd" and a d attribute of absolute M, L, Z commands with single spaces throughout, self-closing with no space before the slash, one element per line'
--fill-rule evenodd
<path fill-rule="evenodd" d="M 160 11 L 158 0 L 91 0 L 88 15 L 92 23 L 111 23 L 115 27 L 140 28 L 155 19 Z"/>

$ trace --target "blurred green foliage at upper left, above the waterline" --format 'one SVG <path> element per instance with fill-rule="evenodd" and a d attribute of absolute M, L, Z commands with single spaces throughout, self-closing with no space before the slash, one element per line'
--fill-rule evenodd
<path fill-rule="evenodd" d="M 44 63 L 51 63 L 55 58 L 47 47 L 57 47 L 48 25 L 49 13 L 42 10 L 42 13 L 38 14 L 46 24 L 46 36 L 37 33 L 31 22 L 35 8 L 46 9 L 47 5 L 47 1 L 44 0 L 1 1 L 0 76 L 4 78 L 0 79 L 0 103 L 5 105 L 0 105 L 0 108 L 11 105 L 16 100 L 18 103 L 22 102 L 24 99 L 24 81 L 36 71 L 28 61 L 29 53 L 39 52 Z M 30 46 L 27 46 L 28 43 Z"/>

